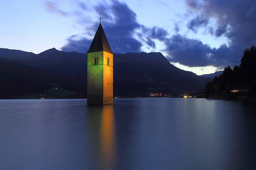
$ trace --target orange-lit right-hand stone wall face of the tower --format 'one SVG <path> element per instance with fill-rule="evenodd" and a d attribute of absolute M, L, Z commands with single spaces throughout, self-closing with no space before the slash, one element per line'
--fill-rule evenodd
<path fill-rule="evenodd" d="M 109 66 L 107 58 L 109 58 Z M 103 104 L 113 104 L 113 54 L 105 51 L 103 51 Z"/>

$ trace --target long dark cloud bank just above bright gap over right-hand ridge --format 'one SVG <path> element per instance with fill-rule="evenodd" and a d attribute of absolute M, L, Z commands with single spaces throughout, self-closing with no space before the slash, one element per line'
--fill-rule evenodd
<path fill-rule="evenodd" d="M 242 51 L 230 49 L 226 45 L 211 48 L 199 40 L 189 39 L 175 34 L 165 41 L 166 52 L 170 62 L 179 62 L 189 67 L 216 66 L 223 68 L 227 65 L 237 65 Z"/>

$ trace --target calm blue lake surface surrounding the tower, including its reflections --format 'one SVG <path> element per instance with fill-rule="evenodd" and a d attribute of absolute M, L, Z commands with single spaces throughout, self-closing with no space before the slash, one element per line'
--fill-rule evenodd
<path fill-rule="evenodd" d="M 0 100 L 0 169 L 256 169 L 255 110 L 181 98 Z"/>

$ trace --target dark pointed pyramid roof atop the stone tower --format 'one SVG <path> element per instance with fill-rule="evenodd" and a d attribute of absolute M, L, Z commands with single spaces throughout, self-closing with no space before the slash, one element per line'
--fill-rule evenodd
<path fill-rule="evenodd" d="M 106 51 L 113 54 L 101 23 L 95 33 L 95 36 L 91 42 L 91 46 L 87 51 L 87 53 L 98 52 L 98 51 Z"/>

